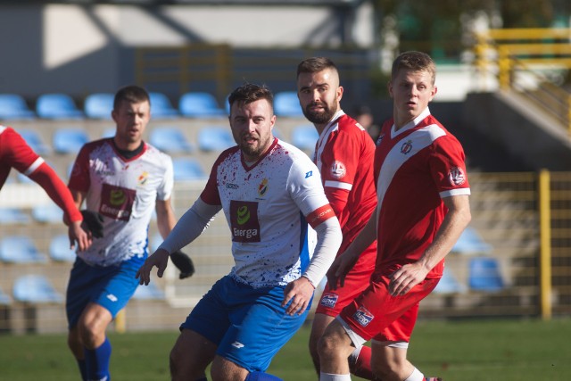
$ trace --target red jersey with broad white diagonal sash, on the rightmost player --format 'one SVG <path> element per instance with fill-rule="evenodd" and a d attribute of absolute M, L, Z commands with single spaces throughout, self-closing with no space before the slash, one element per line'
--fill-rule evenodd
<path fill-rule="evenodd" d="M 428 109 L 394 130 L 387 120 L 377 139 L 377 272 L 418 261 L 443 223 L 443 197 L 469 195 L 462 146 Z M 444 261 L 427 278 L 442 277 Z"/>

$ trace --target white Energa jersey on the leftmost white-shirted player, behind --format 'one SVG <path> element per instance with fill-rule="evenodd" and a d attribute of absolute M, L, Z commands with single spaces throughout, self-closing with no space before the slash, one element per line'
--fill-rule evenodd
<path fill-rule="evenodd" d="M 147 254 L 147 229 L 156 200 L 168 200 L 173 188 L 170 156 L 145 144 L 126 159 L 112 139 L 87 143 L 79 151 L 70 188 L 85 192 L 87 209 L 103 215 L 103 238 L 94 239 L 79 257 L 90 264 L 111 266 Z"/>

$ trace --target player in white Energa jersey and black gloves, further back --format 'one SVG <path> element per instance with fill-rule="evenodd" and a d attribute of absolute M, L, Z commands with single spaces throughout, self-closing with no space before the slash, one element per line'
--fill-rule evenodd
<path fill-rule="evenodd" d="M 153 210 L 161 236 L 176 223 L 170 156 L 143 141 L 150 118 L 145 89 L 120 88 L 112 110 L 115 136 L 84 145 L 71 171 L 76 205 L 85 201 L 87 214 L 103 223 L 103 236 L 78 253 L 67 290 L 68 344 L 83 380 L 111 378 L 112 346 L 105 331 L 137 289 Z"/>

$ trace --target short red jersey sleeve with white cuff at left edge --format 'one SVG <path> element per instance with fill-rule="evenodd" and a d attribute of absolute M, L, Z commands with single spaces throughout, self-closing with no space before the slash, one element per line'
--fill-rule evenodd
<path fill-rule="evenodd" d="M 29 176 L 43 162 L 44 159 L 13 128 L 0 126 L 0 188 L 4 186 L 12 167 Z"/>

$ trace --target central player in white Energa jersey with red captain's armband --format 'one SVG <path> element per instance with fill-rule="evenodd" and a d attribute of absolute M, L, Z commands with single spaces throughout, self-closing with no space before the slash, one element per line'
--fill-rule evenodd
<path fill-rule="evenodd" d="M 237 145 L 220 154 L 203 193 L 137 274 L 146 285 L 156 266 L 161 277 L 169 254 L 224 211 L 235 266 L 181 325 L 170 352 L 175 381 L 206 380 L 210 363 L 213 381 L 278 379 L 264 372 L 302 326 L 342 239 L 315 164 L 273 137 L 269 88 L 245 84 L 228 102 Z"/>

